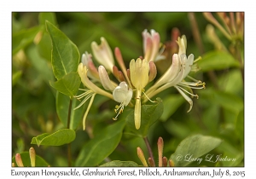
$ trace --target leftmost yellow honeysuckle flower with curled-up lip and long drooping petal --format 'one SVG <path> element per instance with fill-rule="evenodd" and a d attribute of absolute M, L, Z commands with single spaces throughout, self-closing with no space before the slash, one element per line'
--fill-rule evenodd
<path fill-rule="evenodd" d="M 79 104 L 78 107 L 75 107 L 74 109 L 81 107 L 86 101 L 88 101 L 90 99 L 89 105 L 84 113 L 84 118 L 83 118 L 83 129 L 85 130 L 85 119 L 89 113 L 89 110 L 92 105 L 92 102 L 94 101 L 95 95 L 96 94 L 105 95 L 110 99 L 113 99 L 113 96 L 110 93 L 108 93 L 107 91 L 102 90 L 101 88 L 97 87 L 96 84 L 94 84 L 90 81 L 90 79 L 87 76 L 88 68 L 87 68 L 87 66 L 84 66 L 83 63 L 79 64 L 78 72 L 79 72 L 79 76 L 81 78 L 82 83 L 88 90 L 79 89 L 79 90 L 84 90 L 85 92 L 83 94 L 77 95 L 75 97 L 78 100 L 80 100 L 82 98 L 84 98 L 84 100 Z"/>

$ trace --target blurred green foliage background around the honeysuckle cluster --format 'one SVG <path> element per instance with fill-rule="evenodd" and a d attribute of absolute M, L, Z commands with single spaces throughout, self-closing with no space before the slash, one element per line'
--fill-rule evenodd
<path fill-rule="evenodd" d="M 214 14 L 215 15 L 215 14 Z M 216 16 L 216 15 L 215 15 Z M 195 41 L 195 21 L 201 36 L 199 47 Z M 193 99 L 194 107 L 187 113 L 189 104 L 171 88 L 158 96 L 164 101 L 164 113 L 148 134 L 157 159 L 157 139 L 165 142 L 164 155 L 169 158 L 180 141 L 193 134 L 216 136 L 223 140 L 212 154 L 223 154 L 236 158 L 236 162 L 201 163 L 207 166 L 243 166 L 244 157 L 244 85 L 241 75 L 243 66 L 237 65 L 237 58 L 230 51 L 230 42 L 215 29 L 227 51 L 217 51 L 207 34 L 210 24 L 202 13 L 163 13 L 163 12 L 58 12 L 12 14 L 12 156 L 34 147 L 36 153 L 51 166 L 67 166 L 67 146 L 37 147 L 32 145 L 32 137 L 42 133 L 53 133 L 65 128 L 61 124 L 55 109 L 56 91 L 49 81 L 55 81 L 51 67 L 51 41 L 45 31 L 45 20 L 49 20 L 64 32 L 79 48 L 82 55 L 91 53 L 90 43 L 100 43 L 107 39 L 111 49 L 119 47 L 126 65 L 131 59 L 143 55 L 144 29 L 154 29 L 160 33 L 162 43 L 171 41 L 172 30 L 177 28 L 180 35 L 188 39 L 187 55 L 195 58 L 202 56 L 199 72 L 191 72 L 193 78 L 206 82 L 206 90 L 194 90 L 199 99 Z M 193 24 L 194 23 L 194 24 Z M 243 53 L 243 42 L 241 42 Z M 205 57 L 205 58 L 204 58 Z M 167 61 L 167 60 L 166 60 Z M 170 63 L 170 61 L 169 61 Z M 98 64 L 96 63 L 96 66 Z M 204 68 L 205 67 L 205 68 Z M 160 69 L 158 76 L 165 67 Z M 72 142 L 72 155 L 76 159 L 81 147 L 90 138 L 100 132 L 106 124 L 113 123 L 114 101 L 96 95 L 96 101 L 90 108 L 86 131 L 80 124 L 76 130 L 76 139 Z M 125 118 L 125 113 L 120 115 Z M 104 162 L 109 160 L 131 160 L 141 165 L 137 158 L 137 147 L 141 147 L 148 158 L 143 139 L 126 134 L 119 146 Z M 102 163 L 104 163 L 102 162 Z M 192 166 L 198 166 L 194 163 Z"/>

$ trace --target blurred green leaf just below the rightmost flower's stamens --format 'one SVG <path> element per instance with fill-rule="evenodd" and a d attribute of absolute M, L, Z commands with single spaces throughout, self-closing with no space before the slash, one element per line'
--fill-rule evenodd
<path fill-rule="evenodd" d="M 183 104 L 183 101 L 182 95 L 168 95 L 163 100 L 164 112 L 161 115 L 160 120 L 165 122 L 170 118 L 172 114 L 176 112 L 177 108 Z"/>

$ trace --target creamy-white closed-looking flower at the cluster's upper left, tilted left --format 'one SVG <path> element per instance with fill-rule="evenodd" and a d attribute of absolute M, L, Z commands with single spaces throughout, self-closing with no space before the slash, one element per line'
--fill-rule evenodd
<path fill-rule="evenodd" d="M 107 40 L 105 38 L 101 38 L 100 45 L 98 45 L 96 42 L 92 42 L 91 49 L 96 61 L 102 64 L 102 66 L 105 66 L 109 72 L 113 72 L 113 52 L 110 49 Z"/>

